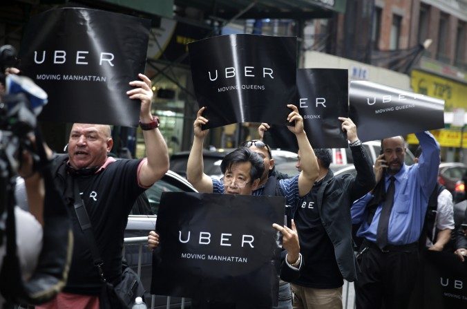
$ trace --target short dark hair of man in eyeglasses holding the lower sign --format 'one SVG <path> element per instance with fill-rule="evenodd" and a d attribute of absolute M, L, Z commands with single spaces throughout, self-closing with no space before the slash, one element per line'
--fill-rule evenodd
<path fill-rule="evenodd" d="M 251 169 L 249 171 L 251 182 L 261 178 L 263 171 L 265 171 L 265 162 L 258 153 L 251 151 L 248 147 L 240 147 L 228 153 L 222 159 L 222 162 L 220 162 L 220 171 L 222 171 L 222 174 L 225 174 L 225 171 L 230 171 L 232 165 L 242 162 L 251 163 Z"/>

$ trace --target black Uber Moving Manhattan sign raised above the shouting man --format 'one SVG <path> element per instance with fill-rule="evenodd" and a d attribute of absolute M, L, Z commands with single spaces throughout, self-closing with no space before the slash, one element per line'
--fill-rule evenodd
<path fill-rule="evenodd" d="M 21 71 L 48 93 L 41 120 L 136 126 L 139 100 L 128 82 L 144 73 L 148 19 L 86 8 L 32 17 L 19 57 Z"/>

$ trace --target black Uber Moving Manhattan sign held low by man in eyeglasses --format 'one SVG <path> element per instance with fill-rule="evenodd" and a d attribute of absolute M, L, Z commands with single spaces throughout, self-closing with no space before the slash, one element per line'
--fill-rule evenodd
<path fill-rule="evenodd" d="M 276 306 L 285 198 L 164 192 L 151 293 Z"/>

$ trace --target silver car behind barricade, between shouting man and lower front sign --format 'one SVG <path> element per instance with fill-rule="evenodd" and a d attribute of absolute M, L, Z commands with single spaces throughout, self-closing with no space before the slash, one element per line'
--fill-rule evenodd
<path fill-rule="evenodd" d="M 128 223 L 125 229 L 125 238 L 129 237 L 146 237 L 151 230 L 155 229 L 155 221 L 159 209 L 160 196 L 162 192 L 196 192 L 196 189 L 182 176 L 173 171 L 167 171 L 166 174 L 158 182 L 155 182 L 149 189 L 147 189 L 143 198 L 147 198 L 146 204 L 135 203 L 128 216 Z M 147 204 L 149 201 L 149 205 Z M 125 259 L 128 265 L 137 271 L 139 244 L 125 246 Z M 146 296 L 146 303 L 149 307 L 151 304 L 151 297 L 149 291 L 151 289 L 152 277 L 152 252 L 148 250 L 145 243 L 142 248 L 141 256 L 141 281 L 148 292 Z M 171 297 L 170 308 L 180 308 L 181 299 L 178 297 Z M 185 306 L 189 306 L 190 301 L 187 299 Z M 166 297 L 155 296 L 155 307 L 153 308 L 166 308 Z"/>

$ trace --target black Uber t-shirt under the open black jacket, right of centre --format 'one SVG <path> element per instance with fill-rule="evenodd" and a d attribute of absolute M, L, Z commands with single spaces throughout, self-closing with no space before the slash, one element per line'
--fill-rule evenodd
<path fill-rule="evenodd" d="M 312 191 L 300 201 L 295 212 L 303 265 L 300 278 L 294 283 L 308 288 L 339 288 L 343 285 L 343 277 L 336 262 L 334 246 L 321 223 L 316 206 L 321 183 L 313 185 Z"/>

